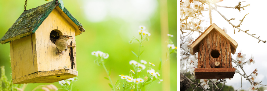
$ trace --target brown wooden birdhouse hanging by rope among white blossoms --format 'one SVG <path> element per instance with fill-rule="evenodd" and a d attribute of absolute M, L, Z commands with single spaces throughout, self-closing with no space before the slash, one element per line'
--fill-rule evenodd
<path fill-rule="evenodd" d="M 236 52 L 237 43 L 214 23 L 191 45 L 192 55 L 197 53 L 196 79 L 233 78 L 231 53 Z"/>

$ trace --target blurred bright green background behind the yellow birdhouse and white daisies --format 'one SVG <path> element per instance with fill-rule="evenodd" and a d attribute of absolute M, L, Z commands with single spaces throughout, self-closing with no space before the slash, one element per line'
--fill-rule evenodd
<path fill-rule="evenodd" d="M 51 2 L 44 0 L 28 0 L 27 10 Z M 74 91 L 110 91 L 105 70 L 97 66 L 91 55 L 93 51 L 109 53 L 106 61 L 107 69 L 112 69 L 111 79 L 115 83 L 118 75 L 128 74 L 132 66 L 130 60 L 137 60 L 131 51 L 137 53 L 138 42 L 129 44 L 132 36 L 139 37 L 138 26 L 146 26 L 151 33 L 150 41 L 144 42 L 145 49 L 141 59 L 153 62 L 157 69 L 161 58 L 161 28 L 159 0 L 63 0 L 68 11 L 83 25 L 85 32 L 76 36 L 78 82 L 74 83 Z M 0 38 L 13 25 L 23 12 L 24 0 L 0 1 Z M 177 0 L 168 0 L 169 34 L 174 35 L 172 41 L 177 46 Z M 5 66 L 6 75 L 11 79 L 9 43 L 0 44 L 0 66 Z M 171 91 L 177 90 L 177 56 L 170 56 Z M 161 74 L 161 72 L 160 72 Z M 164 74 L 161 74 L 164 75 Z M 162 78 L 162 77 L 161 77 Z M 164 81 L 164 79 L 163 79 Z M 44 83 L 50 84 L 50 83 Z M 58 88 L 58 82 L 52 83 Z M 28 84 L 25 91 L 31 91 L 39 83 Z M 153 83 L 151 91 L 161 91 L 162 83 Z M 41 91 L 38 89 L 36 91 Z"/>

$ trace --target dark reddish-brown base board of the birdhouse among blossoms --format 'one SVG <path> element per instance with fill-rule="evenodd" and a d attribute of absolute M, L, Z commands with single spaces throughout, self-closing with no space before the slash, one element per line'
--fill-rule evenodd
<path fill-rule="evenodd" d="M 196 79 L 233 78 L 235 68 L 195 68 Z"/>

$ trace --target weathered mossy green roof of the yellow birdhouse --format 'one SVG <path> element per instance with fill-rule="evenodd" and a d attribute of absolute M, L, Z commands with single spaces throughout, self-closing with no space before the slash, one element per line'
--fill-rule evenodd
<path fill-rule="evenodd" d="M 61 5 L 56 4 L 56 1 L 54 0 L 36 8 L 24 11 L 0 39 L 1 44 L 33 34 L 57 5 L 61 8 Z M 63 12 L 78 26 L 81 32 L 85 32 L 82 28 L 82 24 L 78 22 L 65 7 Z"/>

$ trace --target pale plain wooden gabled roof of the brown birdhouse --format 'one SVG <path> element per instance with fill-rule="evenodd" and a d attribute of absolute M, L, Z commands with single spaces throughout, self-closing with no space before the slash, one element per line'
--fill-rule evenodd
<path fill-rule="evenodd" d="M 222 29 L 220 29 L 214 23 L 211 24 L 192 44 L 190 45 L 190 52 L 192 55 L 195 55 L 199 48 L 199 43 L 212 31 L 217 31 L 220 35 L 222 35 L 231 45 L 231 53 L 235 54 L 237 48 L 237 42 L 233 40 L 229 35 L 227 35 Z"/>

